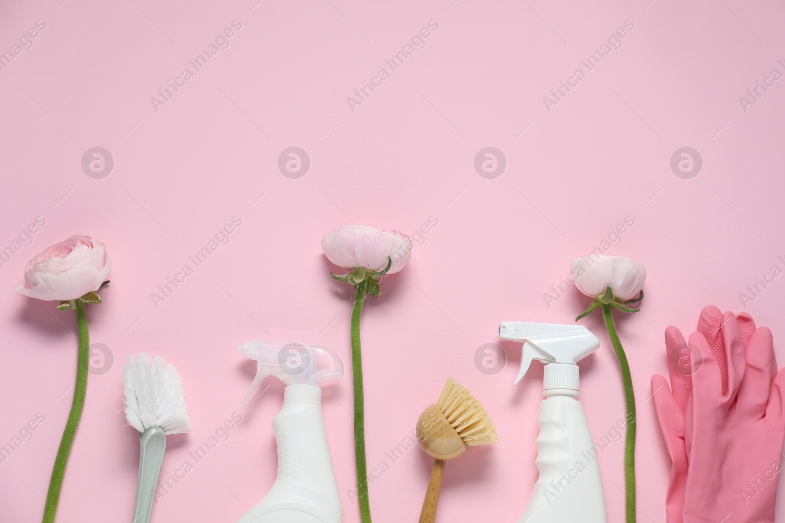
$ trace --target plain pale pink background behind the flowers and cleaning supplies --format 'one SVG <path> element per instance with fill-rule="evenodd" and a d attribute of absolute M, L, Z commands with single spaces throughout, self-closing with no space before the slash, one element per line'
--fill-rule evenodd
<path fill-rule="evenodd" d="M 542 370 L 512 387 L 520 347 L 495 375 L 476 369 L 502 320 L 570 323 L 589 303 L 543 293 L 626 216 L 608 254 L 644 263 L 641 314 L 619 314 L 639 409 L 638 521 L 665 521 L 670 460 L 649 380 L 666 373 L 663 332 L 692 332 L 700 309 L 739 311 L 740 292 L 785 267 L 785 80 L 744 111 L 739 96 L 785 61 L 781 2 L 4 2 L 0 51 L 46 29 L 0 71 L 0 248 L 46 225 L 0 267 L 0 445 L 36 413 L 46 421 L 0 463 L 0 520 L 38 521 L 74 380 L 74 314 L 15 292 L 24 264 L 70 234 L 92 234 L 114 258 L 104 303 L 89 307 L 93 343 L 114 364 L 89 376 L 60 517 L 130 518 L 137 434 L 122 414 L 122 361 L 160 354 L 180 372 L 191 434 L 170 437 L 162 476 L 232 412 L 243 421 L 197 463 L 153 521 L 236 521 L 276 474 L 270 421 L 283 387 L 239 401 L 254 366 L 237 346 L 263 338 L 331 347 L 349 368 L 348 285 L 319 241 L 344 223 L 413 234 L 411 263 L 385 278 L 363 316 L 367 459 L 377 521 L 415 521 L 431 460 L 416 447 L 392 463 L 447 376 L 466 383 L 501 439 L 447 465 L 438 521 L 514 521 L 537 478 Z M 242 29 L 156 112 L 150 101 L 225 27 Z M 371 81 L 429 20 L 425 48 L 360 106 Z M 543 96 L 618 28 L 614 49 L 548 111 Z M 524 132 L 525 130 L 525 132 Z M 105 147 L 115 166 L 86 176 L 82 155 Z M 301 147 L 307 174 L 279 172 Z M 483 147 L 502 176 L 475 171 Z M 670 157 L 693 147 L 703 170 L 677 177 Z M 262 197 L 262 195 L 264 196 Z M 261 199 L 259 199 L 262 197 Z M 158 307 L 151 293 L 239 216 L 242 225 Z M 618 241 L 616 242 L 618 243 Z M 747 311 L 774 332 L 785 361 L 777 278 Z M 600 317 L 582 321 L 602 347 L 582 362 L 582 401 L 599 440 L 624 415 L 618 365 Z M 104 369 L 105 370 L 105 369 Z M 349 376 L 327 384 L 324 417 L 344 521 L 359 521 Z M 65 394 L 64 394 L 65 393 Z M 608 521 L 623 521 L 623 442 L 601 455 Z M 719 459 L 719 456 L 718 456 Z M 245 506 L 245 507 L 243 507 Z M 60 520 L 58 520 L 60 521 Z"/>

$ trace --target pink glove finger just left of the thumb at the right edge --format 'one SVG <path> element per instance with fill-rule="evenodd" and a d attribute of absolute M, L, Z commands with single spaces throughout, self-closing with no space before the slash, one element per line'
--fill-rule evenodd
<path fill-rule="evenodd" d="M 773 359 L 772 332 L 761 327 L 754 332 L 747 345 L 747 369 L 744 371 L 744 380 L 736 401 L 736 406 L 750 421 L 758 421 L 765 416 L 774 375 L 772 368 L 776 372 Z"/>

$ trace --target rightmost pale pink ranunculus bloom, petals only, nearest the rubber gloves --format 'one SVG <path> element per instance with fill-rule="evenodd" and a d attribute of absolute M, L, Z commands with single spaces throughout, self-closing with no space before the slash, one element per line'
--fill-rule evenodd
<path fill-rule="evenodd" d="M 646 267 L 624 256 L 590 255 L 573 258 L 570 274 L 586 296 L 596 298 L 611 288 L 617 300 L 626 301 L 641 293 Z"/>

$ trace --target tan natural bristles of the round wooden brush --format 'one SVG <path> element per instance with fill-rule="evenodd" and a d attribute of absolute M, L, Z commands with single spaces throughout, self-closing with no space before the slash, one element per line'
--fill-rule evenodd
<path fill-rule="evenodd" d="M 453 378 L 447 379 L 436 406 L 466 445 L 498 443 L 496 427 L 480 401 Z"/>

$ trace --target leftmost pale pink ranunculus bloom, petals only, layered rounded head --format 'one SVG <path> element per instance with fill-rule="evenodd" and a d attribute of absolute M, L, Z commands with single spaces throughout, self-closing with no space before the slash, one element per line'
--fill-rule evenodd
<path fill-rule="evenodd" d="M 16 290 L 38 300 L 75 300 L 97 291 L 110 272 L 106 245 L 74 234 L 30 260 L 24 268 L 24 283 Z"/>

